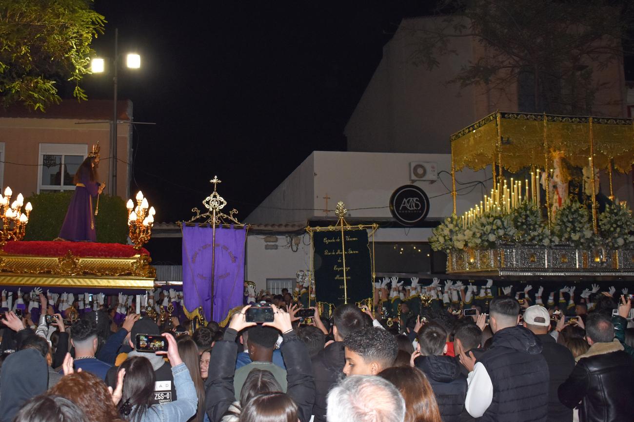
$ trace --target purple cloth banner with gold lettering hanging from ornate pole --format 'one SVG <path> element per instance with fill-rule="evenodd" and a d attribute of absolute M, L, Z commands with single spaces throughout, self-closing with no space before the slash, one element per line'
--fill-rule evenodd
<path fill-rule="evenodd" d="M 216 227 L 212 292 L 213 229 L 183 226 L 183 298 L 188 311 L 202 305 L 207 321 L 223 321 L 230 309 L 242 305 L 246 236 L 245 229 Z"/>

